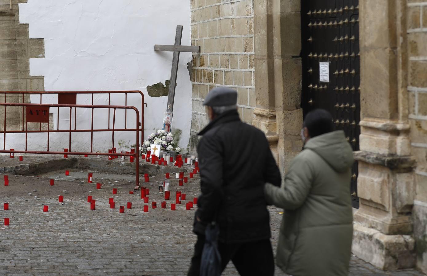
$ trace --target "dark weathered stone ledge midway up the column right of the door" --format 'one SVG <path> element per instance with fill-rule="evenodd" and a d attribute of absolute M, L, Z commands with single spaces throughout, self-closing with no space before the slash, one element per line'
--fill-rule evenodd
<path fill-rule="evenodd" d="M 381 165 L 390 170 L 400 170 L 402 172 L 412 171 L 416 163 L 415 158 L 412 156 L 381 155 L 365 151 L 354 152 L 354 159 L 368 164 Z"/>

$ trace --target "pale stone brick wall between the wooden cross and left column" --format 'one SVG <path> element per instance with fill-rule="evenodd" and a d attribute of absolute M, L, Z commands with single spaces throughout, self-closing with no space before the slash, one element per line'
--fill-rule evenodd
<path fill-rule="evenodd" d="M 252 124 L 255 107 L 254 11 L 252 0 L 191 0 L 193 108 L 190 152 L 197 133 L 208 124 L 202 103 L 215 86 L 237 90 L 241 118 Z"/>

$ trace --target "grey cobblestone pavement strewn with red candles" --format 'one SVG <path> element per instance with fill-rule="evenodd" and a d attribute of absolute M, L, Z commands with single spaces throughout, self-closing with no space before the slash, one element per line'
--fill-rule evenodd
<path fill-rule="evenodd" d="M 0 166 L 4 164 L 0 158 Z M 0 275 L 185 275 L 196 240 L 191 231 L 195 208 L 185 210 L 185 203 L 199 194 L 199 176 L 182 187 L 172 179 L 171 200 L 161 209 L 164 194 L 158 193 L 156 181 L 161 183 L 164 175 L 150 176 L 145 184 L 149 204 L 144 204 L 139 192 L 129 194 L 134 187 L 128 182 L 134 180 L 132 175 L 92 173 L 92 184 L 87 183 L 88 172 L 73 169 L 67 177 L 64 170 L 40 176 L 9 175 L 7 187 L 0 176 L 0 202 L 9 202 L 7 211 L 0 206 Z M 55 186 L 49 185 L 51 178 Z M 103 184 L 101 190 L 96 190 L 96 182 Z M 113 188 L 117 195 L 112 195 Z M 177 190 L 186 194 L 187 201 L 172 211 L 170 203 Z M 58 195 L 64 196 L 63 204 L 58 203 Z M 96 199 L 96 210 L 90 210 L 88 195 Z M 115 209 L 109 207 L 110 197 Z M 132 209 L 126 209 L 128 201 Z M 152 201 L 157 209 L 152 209 Z M 44 205 L 49 205 L 48 213 L 42 211 Z M 120 205 L 125 213 L 119 213 Z M 143 213 L 144 205 L 149 205 L 148 213 Z M 270 207 L 269 211 L 275 248 L 281 210 Z M 3 226 L 4 218 L 10 219 L 9 226 Z M 230 263 L 223 275 L 238 273 Z M 276 275 L 285 274 L 276 267 Z M 349 275 L 424 274 L 383 272 L 353 257 Z"/>

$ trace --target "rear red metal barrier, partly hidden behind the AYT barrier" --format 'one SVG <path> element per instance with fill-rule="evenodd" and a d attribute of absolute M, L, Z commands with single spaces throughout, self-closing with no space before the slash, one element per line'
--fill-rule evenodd
<path fill-rule="evenodd" d="M 111 104 L 111 94 L 124 94 L 125 96 L 125 106 L 128 106 L 128 94 L 137 93 L 141 95 L 141 113 L 140 113 L 140 139 L 143 141 L 144 138 L 144 94 L 139 90 L 129 90 L 129 91 L 0 91 L 0 94 L 4 94 L 4 102 L 6 103 L 6 95 L 22 95 L 22 102 L 25 101 L 25 95 L 40 95 L 40 103 L 42 101 L 42 95 L 58 95 L 58 104 L 76 104 L 76 98 L 78 95 L 88 94 L 91 95 L 92 101 L 91 104 L 94 104 L 94 95 L 96 94 L 108 94 L 108 106 Z M 129 106 L 135 106 L 133 104 Z M 110 109 L 108 109 L 108 129 L 110 129 Z M 6 114 L 6 112 L 5 112 Z M 22 114 L 24 114 L 24 106 L 22 106 Z M 6 124 L 5 124 L 6 125 Z M 22 130 L 24 129 L 24 115 L 22 115 Z M 76 112 L 74 112 L 74 129 L 76 130 Z M 127 129 L 127 109 L 125 111 L 125 129 Z M 40 128 L 41 130 L 41 124 Z M 57 116 L 57 129 L 59 130 L 59 107 L 58 107 L 58 116 Z"/>

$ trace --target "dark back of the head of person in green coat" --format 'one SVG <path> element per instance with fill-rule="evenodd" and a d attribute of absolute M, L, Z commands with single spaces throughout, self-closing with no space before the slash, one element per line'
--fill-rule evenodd
<path fill-rule="evenodd" d="M 304 127 L 310 137 L 316 137 L 333 131 L 332 116 L 325 109 L 314 109 L 305 116 Z"/>

